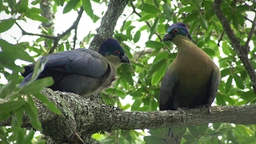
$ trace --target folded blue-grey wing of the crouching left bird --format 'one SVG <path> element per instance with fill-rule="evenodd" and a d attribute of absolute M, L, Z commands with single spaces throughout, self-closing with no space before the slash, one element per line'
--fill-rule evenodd
<path fill-rule="evenodd" d="M 41 61 L 46 62 L 45 69 L 59 70 L 66 73 L 79 74 L 90 77 L 100 77 L 106 73 L 108 68 L 108 62 L 101 54 L 98 54 L 94 50 L 88 49 L 75 49 L 69 51 L 62 51 L 55 54 L 49 54 L 41 58 Z M 34 65 L 29 65 L 25 68 L 33 71 Z M 25 71 L 26 74 L 29 74 Z M 23 75 L 24 76 L 24 75 Z"/>

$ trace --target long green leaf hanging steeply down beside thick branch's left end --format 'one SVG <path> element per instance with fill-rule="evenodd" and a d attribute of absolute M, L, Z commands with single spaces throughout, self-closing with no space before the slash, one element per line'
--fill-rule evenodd
<path fill-rule="evenodd" d="M 42 124 L 38 119 L 38 110 L 34 106 L 34 102 L 30 96 L 27 97 L 28 101 L 24 105 L 26 114 L 30 117 L 30 123 L 36 130 L 42 131 Z"/>

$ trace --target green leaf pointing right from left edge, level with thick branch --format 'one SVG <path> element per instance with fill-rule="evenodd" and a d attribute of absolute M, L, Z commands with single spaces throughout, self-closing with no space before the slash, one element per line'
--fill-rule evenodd
<path fill-rule="evenodd" d="M 24 99 L 18 99 L 15 101 L 4 102 L 0 104 L 0 112 L 6 113 L 8 111 L 17 110 L 22 107 L 26 101 Z"/>

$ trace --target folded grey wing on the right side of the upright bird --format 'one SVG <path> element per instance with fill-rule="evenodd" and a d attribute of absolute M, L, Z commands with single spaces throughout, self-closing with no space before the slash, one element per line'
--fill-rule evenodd
<path fill-rule="evenodd" d="M 213 77 L 210 83 L 210 89 L 207 94 L 206 102 L 209 106 L 214 102 L 214 98 L 216 97 L 216 94 L 218 92 L 218 85 L 221 79 L 221 73 L 218 69 L 218 67 L 215 67 L 213 70 Z"/>

